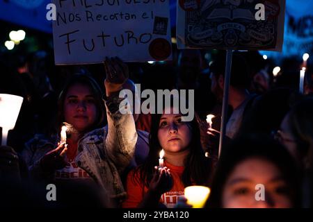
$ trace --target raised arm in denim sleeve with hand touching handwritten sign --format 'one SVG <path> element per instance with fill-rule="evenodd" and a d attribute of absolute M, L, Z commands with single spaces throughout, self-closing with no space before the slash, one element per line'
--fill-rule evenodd
<path fill-rule="evenodd" d="M 106 116 L 108 119 L 108 134 L 104 144 L 106 153 L 115 163 L 118 171 L 127 167 L 134 155 L 137 142 L 137 133 L 132 114 L 122 114 L 119 110 L 120 103 L 125 100 L 120 98 L 122 85 L 129 77 L 129 69 L 118 58 L 106 58 Z"/>

